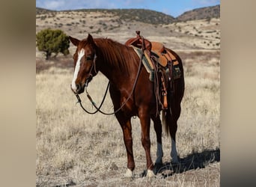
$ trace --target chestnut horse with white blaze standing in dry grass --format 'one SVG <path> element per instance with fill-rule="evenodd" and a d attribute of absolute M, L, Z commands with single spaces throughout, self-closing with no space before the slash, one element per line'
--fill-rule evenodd
<path fill-rule="evenodd" d="M 145 67 L 140 66 L 140 57 L 131 46 L 125 46 L 106 38 L 94 39 L 91 34 L 88 34 L 84 40 L 70 37 L 70 41 L 77 47 L 73 55 L 74 73 L 71 84 L 73 93 L 76 95 L 83 93 L 85 85 L 88 85 L 88 82 L 91 82 L 92 77 L 96 76 L 99 71 L 109 79 L 109 93 L 114 111 L 118 110 L 115 117 L 123 130 L 127 150 L 125 176 L 133 177 L 134 174 L 131 117 L 138 116 L 141 123 L 141 143 L 147 159 L 147 177 L 152 177 L 154 165 L 150 156 L 150 119 L 153 120 L 156 131 L 157 158 L 155 163 L 162 164 L 162 123 L 159 111 L 157 111 L 161 107 L 156 107 L 158 102 L 154 92 L 154 83 L 150 82 Z M 168 134 L 171 134 L 172 162 L 177 163 L 175 134 L 177 120 L 180 117 L 180 102 L 184 93 L 184 78 L 182 61 L 176 53 L 171 52 L 179 62 L 181 77 L 174 80 L 173 93 L 168 91 L 169 104 L 165 112 L 165 129 Z"/>

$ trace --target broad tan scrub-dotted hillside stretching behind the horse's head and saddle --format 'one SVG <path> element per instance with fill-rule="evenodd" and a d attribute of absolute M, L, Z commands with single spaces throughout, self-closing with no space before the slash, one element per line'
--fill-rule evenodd
<path fill-rule="evenodd" d="M 80 39 L 91 33 L 94 37 L 109 37 L 124 43 L 140 30 L 147 39 L 172 49 L 219 49 L 220 46 L 219 18 L 177 22 L 172 16 L 143 9 L 53 11 L 37 8 L 36 12 L 36 32 L 45 28 L 61 29 Z"/>

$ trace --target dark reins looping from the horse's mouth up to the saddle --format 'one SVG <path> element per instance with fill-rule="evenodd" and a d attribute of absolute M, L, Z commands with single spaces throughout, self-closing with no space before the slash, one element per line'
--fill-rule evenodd
<path fill-rule="evenodd" d="M 141 36 L 141 38 L 142 38 L 142 46 L 144 46 L 144 38 L 143 38 L 142 36 Z M 102 100 L 102 102 L 100 103 L 100 106 L 97 107 L 96 103 L 94 102 L 94 100 L 91 98 L 90 94 L 89 94 L 88 91 L 87 91 L 89 79 L 87 79 L 87 81 L 86 81 L 86 83 L 85 83 L 85 92 L 86 92 L 86 96 L 87 96 L 88 99 L 91 101 L 91 104 L 94 105 L 94 108 L 96 108 L 96 111 L 91 112 L 91 111 L 86 110 L 86 109 L 84 108 L 84 106 L 82 105 L 82 100 L 80 99 L 79 94 L 76 94 L 76 98 L 77 98 L 77 100 L 78 100 L 76 103 L 79 102 L 81 108 L 82 108 L 86 113 L 88 113 L 88 114 L 96 114 L 97 112 L 100 112 L 101 114 L 105 114 L 105 115 L 116 114 L 118 111 L 120 111 L 120 110 L 124 107 L 124 105 L 127 104 L 128 100 L 129 100 L 129 99 L 131 98 L 131 96 L 132 96 L 133 91 L 135 90 L 135 85 L 136 85 L 136 83 L 137 83 L 137 81 L 138 81 L 138 76 L 139 76 L 139 73 L 140 73 L 140 71 L 141 71 L 143 55 L 144 55 L 144 49 L 143 49 L 143 47 L 142 47 L 142 48 L 141 48 L 141 57 L 140 57 L 139 65 L 138 65 L 138 73 L 137 73 L 136 78 L 135 78 L 135 81 L 134 81 L 134 83 L 133 83 L 132 91 L 131 91 L 131 93 L 129 93 L 129 96 L 128 96 L 127 99 L 123 102 L 123 104 L 120 106 L 120 108 L 118 108 L 117 110 L 115 110 L 115 111 L 112 112 L 112 113 L 106 113 L 106 112 L 100 110 L 100 108 L 101 108 L 102 105 L 103 105 L 103 102 L 104 102 L 105 99 L 106 99 L 106 93 L 107 93 L 107 91 L 109 90 L 110 82 L 108 83 L 108 86 L 107 86 L 107 88 L 106 88 L 105 94 L 104 94 L 104 96 L 103 96 L 103 100 Z M 96 67 L 96 66 L 95 66 L 95 60 L 94 60 L 94 65 L 93 65 L 93 66 L 94 66 L 94 68 Z M 92 67 L 91 67 L 91 70 L 92 70 Z"/>

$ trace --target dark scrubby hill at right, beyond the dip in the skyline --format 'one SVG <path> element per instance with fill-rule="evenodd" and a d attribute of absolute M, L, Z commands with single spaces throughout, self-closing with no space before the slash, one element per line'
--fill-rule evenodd
<path fill-rule="evenodd" d="M 210 19 L 220 17 L 220 6 L 202 7 L 194 10 L 186 11 L 185 13 L 177 16 L 177 21 L 191 21 L 196 19 Z"/>

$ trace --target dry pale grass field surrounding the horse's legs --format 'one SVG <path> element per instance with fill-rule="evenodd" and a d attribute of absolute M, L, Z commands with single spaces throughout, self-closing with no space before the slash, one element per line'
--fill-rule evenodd
<path fill-rule="evenodd" d="M 136 118 L 132 119 L 135 179 L 124 180 L 127 156 L 121 128 L 114 116 L 85 114 L 76 105 L 76 96 L 69 86 L 73 76 L 72 59 L 66 58 L 55 61 L 36 75 L 37 185 L 60 186 L 72 180 L 78 186 L 103 183 L 109 186 L 145 183 L 151 186 L 175 186 L 177 183 L 180 183 L 178 186 L 219 186 L 219 52 L 180 52 L 180 57 L 185 68 L 186 92 L 178 121 L 177 149 L 186 165 L 176 168 L 176 174 L 168 176 L 171 173 L 168 168 L 150 182 L 138 177 L 145 169 L 145 157 Z M 107 80 L 101 74 L 89 85 L 88 91 L 95 102 L 100 103 L 106 85 Z M 85 95 L 82 102 L 91 109 Z M 109 95 L 103 110 L 112 111 Z M 151 154 L 156 159 L 153 125 L 150 137 Z M 171 142 L 165 133 L 163 142 L 163 162 L 168 163 Z M 162 178 L 165 175 L 168 177 Z"/>

